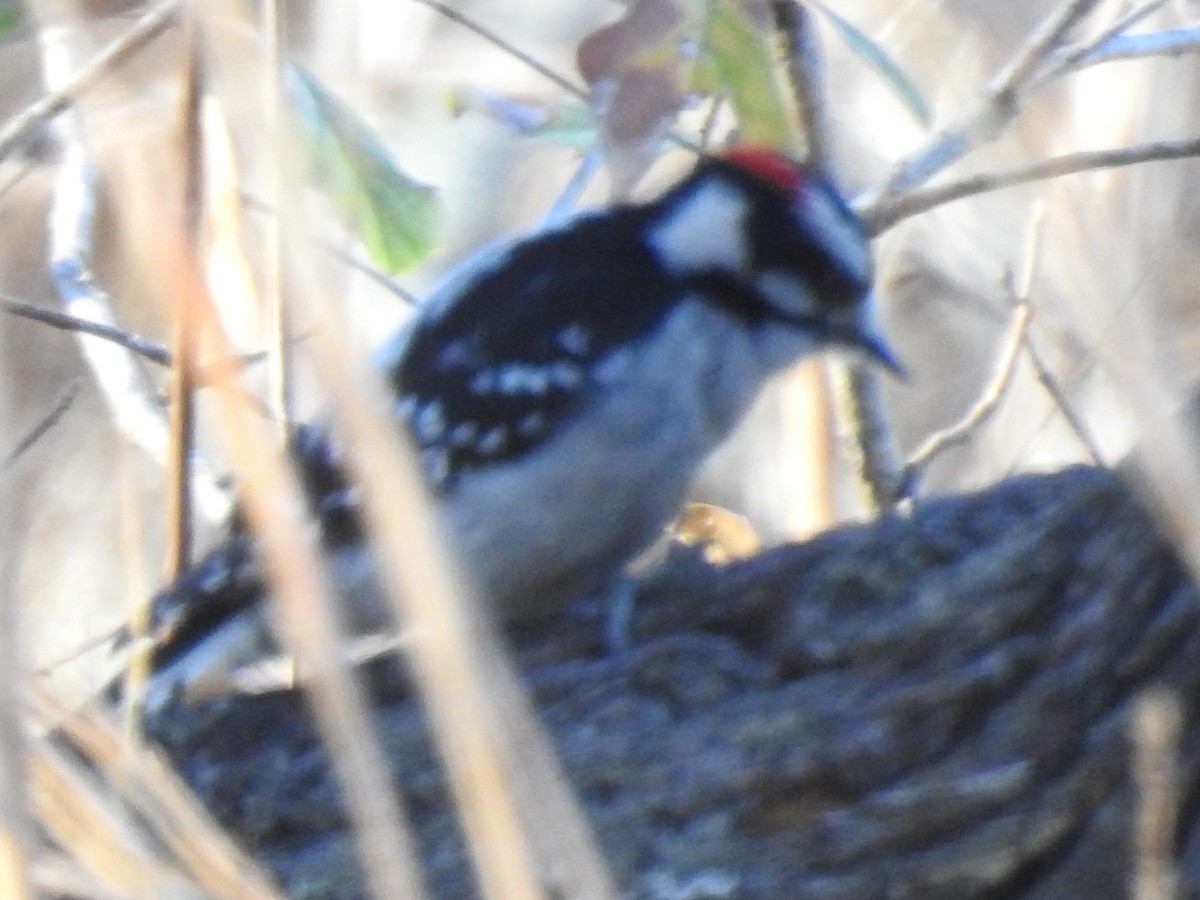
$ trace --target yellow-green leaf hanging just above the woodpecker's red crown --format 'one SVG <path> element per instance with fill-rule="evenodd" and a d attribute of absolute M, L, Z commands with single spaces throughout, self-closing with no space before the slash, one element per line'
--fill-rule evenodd
<path fill-rule="evenodd" d="M 772 42 L 734 0 L 713 4 L 704 49 L 728 92 L 742 139 L 796 152 L 800 145 Z"/>

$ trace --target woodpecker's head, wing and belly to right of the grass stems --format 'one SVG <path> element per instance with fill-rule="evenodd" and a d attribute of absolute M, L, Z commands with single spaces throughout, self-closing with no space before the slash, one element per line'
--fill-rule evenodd
<path fill-rule="evenodd" d="M 764 150 L 704 158 L 655 200 L 581 214 L 451 272 L 378 361 L 499 614 L 552 611 L 617 574 L 763 384 L 808 352 L 840 344 L 895 368 L 871 278 L 842 198 Z"/>

